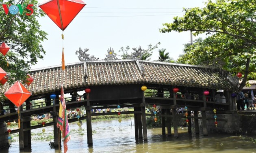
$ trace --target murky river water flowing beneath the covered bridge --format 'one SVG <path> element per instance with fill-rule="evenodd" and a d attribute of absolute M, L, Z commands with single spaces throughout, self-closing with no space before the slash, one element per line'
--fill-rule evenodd
<path fill-rule="evenodd" d="M 83 122 L 81 127 L 76 122 L 69 124 L 72 133 L 67 153 L 256 153 L 253 137 L 229 134 L 196 136 L 193 130 L 189 134 L 185 128 L 178 129 L 179 138 L 162 136 L 161 128 L 148 128 L 148 142 L 138 141 L 135 140 L 134 119 L 122 119 L 121 123 L 118 119 L 93 121 L 93 147 L 88 147 L 86 121 Z M 45 127 L 44 134 L 53 135 L 52 129 L 52 126 Z M 31 132 L 42 133 L 42 128 Z M 19 142 L 15 141 L 9 150 L 0 150 L 0 153 L 59 153 L 58 149 L 50 148 L 49 142 L 32 137 L 31 149 L 20 151 Z M 61 149 L 63 153 L 63 147 Z"/>

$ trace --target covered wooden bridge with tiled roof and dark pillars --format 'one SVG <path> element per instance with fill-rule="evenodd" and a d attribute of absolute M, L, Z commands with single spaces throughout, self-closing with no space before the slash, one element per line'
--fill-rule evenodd
<path fill-rule="evenodd" d="M 147 106 L 155 104 L 161 109 L 157 116 L 162 118 L 162 132 L 165 134 L 167 127 L 167 134 L 171 136 L 172 123 L 175 137 L 178 137 L 176 108 L 188 107 L 189 132 L 191 132 L 191 118 L 195 119 L 195 132 L 197 134 L 199 133 L 198 119 L 202 119 L 204 135 L 208 134 L 206 121 L 214 124 L 214 119 L 206 118 L 208 110 L 212 111 L 216 108 L 218 111 L 228 111 L 236 108 L 231 94 L 232 91 L 236 91 L 237 87 L 228 79 L 226 72 L 217 68 L 142 60 L 111 60 L 67 64 L 64 71 L 61 70 L 61 66 L 40 68 L 32 70 L 30 75 L 34 81 L 27 89 L 32 93 L 32 96 L 26 101 L 26 104 L 24 103 L 20 113 L 22 119 L 20 130 L 12 131 L 19 132 L 20 149 L 31 144 L 30 130 L 41 128 L 41 125 L 30 126 L 30 117 L 51 113 L 54 122 L 45 126 L 56 125 L 61 84 L 64 86 L 65 94 L 72 93 L 74 90 L 91 89 L 91 92 L 83 96 L 82 100 L 67 102 L 67 109 L 85 107 L 86 116 L 80 119 L 87 120 L 89 145 L 93 144 L 91 116 L 117 114 L 92 114 L 91 109 L 117 108 L 117 105 L 134 108 L 134 111 L 124 113 L 135 115 L 135 137 L 147 140 L 145 113 Z M 142 91 L 143 85 L 151 90 Z M 2 86 L 1 92 L 7 91 L 10 86 Z M 174 88 L 178 88 L 179 92 L 174 92 Z M 215 101 L 215 92 L 219 89 L 223 90 L 226 103 Z M 207 96 L 204 95 L 206 90 L 209 91 Z M 48 98 L 47 96 L 50 94 L 57 95 L 54 104 L 30 108 L 31 100 Z M 193 117 L 190 116 L 190 110 L 194 111 Z M 202 117 L 197 116 L 197 111 L 201 111 Z M 6 122 L 14 119 L 17 119 L 17 113 L 1 115 L 0 124 L 5 126 Z M 72 121 L 77 121 L 77 119 L 69 120 L 69 122 Z M 4 132 L 7 137 L 6 131 Z M 57 131 L 58 129 L 54 126 L 55 145 L 58 145 Z"/>

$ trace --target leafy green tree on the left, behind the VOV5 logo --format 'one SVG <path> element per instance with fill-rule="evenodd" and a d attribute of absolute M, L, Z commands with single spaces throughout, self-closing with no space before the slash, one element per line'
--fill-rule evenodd
<path fill-rule="evenodd" d="M 10 47 L 7 55 L 0 54 L 0 66 L 9 74 L 9 81 L 13 83 L 17 80 L 25 80 L 30 66 L 43 58 L 45 51 L 41 42 L 46 39 L 46 32 L 40 30 L 37 21 L 43 12 L 37 7 L 36 0 L 0 0 L 0 4 L 9 4 L 25 6 L 23 13 L 18 12 L 12 15 L 10 12 L 6 15 L 3 7 L 0 9 L 0 43 L 6 43 Z M 33 14 L 26 9 L 28 4 L 33 4 Z M 23 6 L 23 7 L 24 7 Z M 8 62 L 8 63 L 7 63 Z"/>

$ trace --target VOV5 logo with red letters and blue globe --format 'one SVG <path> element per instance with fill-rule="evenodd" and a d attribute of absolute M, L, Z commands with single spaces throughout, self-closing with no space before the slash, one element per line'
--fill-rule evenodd
<path fill-rule="evenodd" d="M 9 8 L 7 7 L 7 4 L 2 4 L 2 6 L 4 8 L 4 12 L 5 12 L 6 15 L 8 15 L 9 12 L 12 15 L 15 15 L 18 12 L 20 12 L 20 14 L 22 15 L 24 9 L 30 10 L 30 13 L 26 13 L 26 15 L 31 15 L 31 14 L 34 13 L 34 10 L 32 8 L 32 6 L 34 6 L 34 4 L 28 4 L 27 6 L 25 4 L 23 4 L 23 6 L 21 4 L 17 4 L 17 6 L 9 4 Z"/>

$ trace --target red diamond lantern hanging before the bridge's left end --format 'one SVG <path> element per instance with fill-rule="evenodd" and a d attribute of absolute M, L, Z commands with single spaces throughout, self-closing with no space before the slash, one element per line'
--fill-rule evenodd
<path fill-rule="evenodd" d="M 31 93 L 19 81 L 16 81 L 4 95 L 15 106 L 20 107 L 31 96 Z"/>

